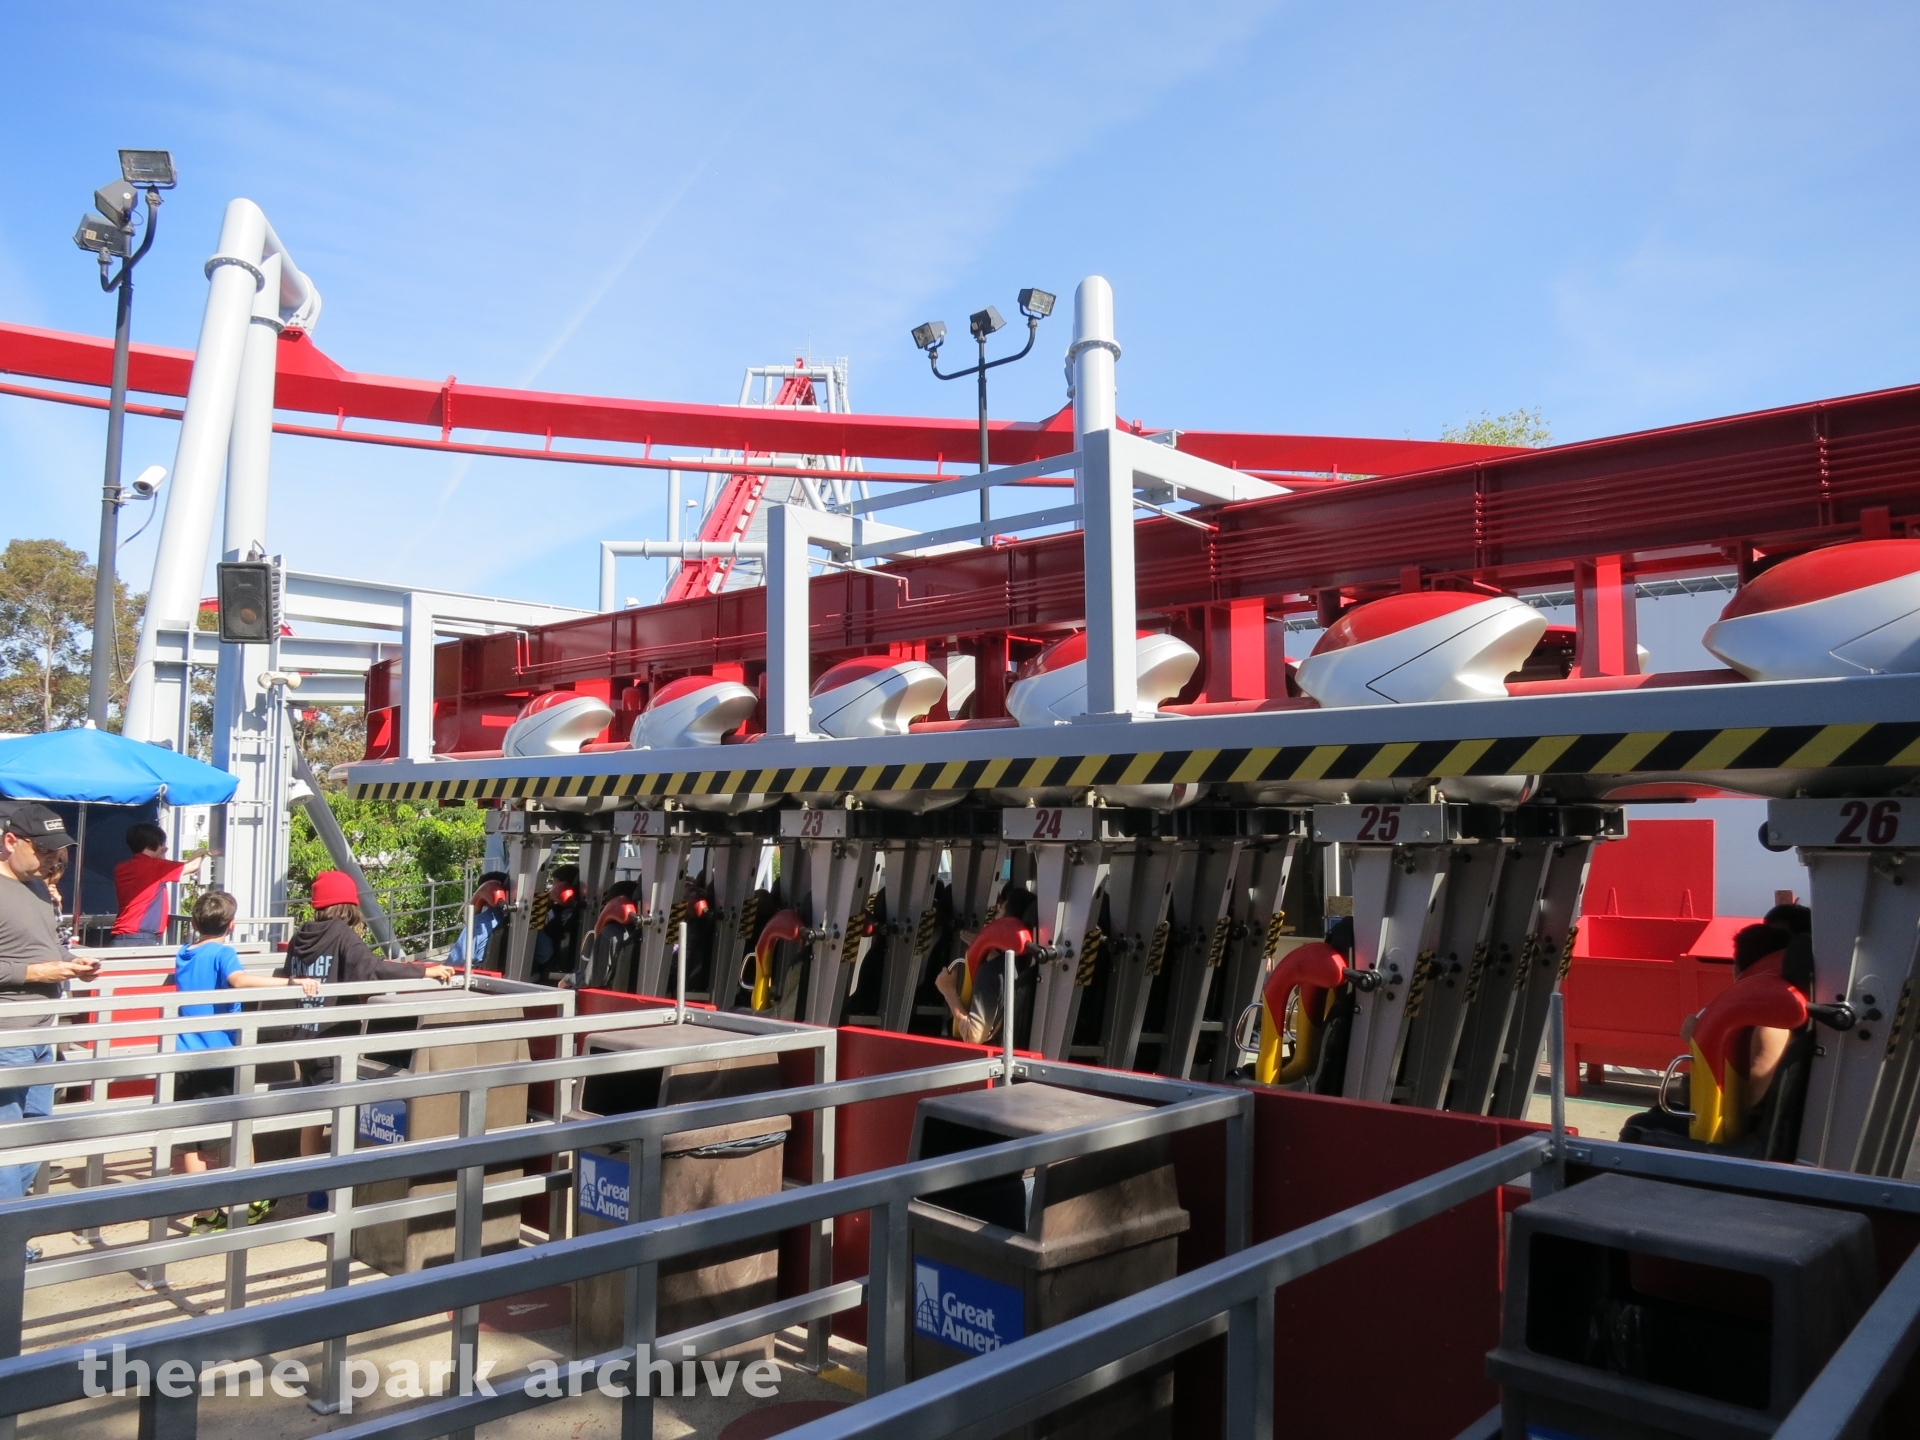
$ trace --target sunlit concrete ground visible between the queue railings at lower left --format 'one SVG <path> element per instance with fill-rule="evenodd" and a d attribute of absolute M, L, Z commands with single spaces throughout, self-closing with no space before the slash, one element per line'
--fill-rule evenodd
<path fill-rule="evenodd" d="M 144 1171 L 144 1164 L 134 1158 L 127 1158 L 123 1164 L 140 1164 Z M 119 1167 L 117 1164 L 115 1169 Z M 69 1187 L 71 1179 L 54 1183 L 56 1192 Z M 286 1204 L 282 1202 L 282 1206 Z M 184 1219 L 175 1221 L 175 1233 L 186 1233 Z M 144 1236 L 144 1223 L 109 1227 L 102 1235 L 102 1244 L 125 1244 Z M 540 1236 L 526 1233 L 524 1238 L 536 1242 Z M 42 1236 L 38 1244 L 48 1260 L 94 1248 L 77 1235 L 50 1235 Z M 323 1281 L 323 1258 L 324 1250 L 317 1240 L 271 1242 L 271 1225 L 261 1227 L 261 1244 L 248 1254 L 250 1306 L 317 1292 Z M 92 1344 L 102 1350 L 102 1356 L 109 1356 L 115 1338 L 123 1338 L 131 1331 L 217 1315 L 225 1296 L 225 1258 L 209 1256 L 171 1265 L 167 1283 L 152 1290 L 142 1288 L 132 1275 L 108 1275 L 29 1290 L 25 1350 Z M 378 1271 L 359 1261 L 351 1267 L 351 1283 L 355 1284 L 378 1277 Z M 536 1304 L 555 1298 L 555 1292 L 528 1296 Z M 822 1375 L 812 1375 L 799 1367 L 803 1342 L 803 1331 L 778 1336 L 780 1379 L 774 1382 L 778 1394 L 770 1400 L 747 1396 L 737 1377 L 728 1396 L 708 1394 L 705 1380 L 701 1380 L 699 1394 L 693 1398 L 657 1398 L 655 1440 L 716 1440 L 728 1425 L 741 1421 L 751 1411 L 772 1411 L 793 1402 L 845 1404 L 866 1392 L 866 1350 L 862 1346 L 835 1340 L 833 1365 Z M 378 1367 L 382 1390 L 355 1402 L 351 1415 L 317 1415 L 305 1400 L 276 1396 L 271 1384 L 259 1398 L 250 1394 L 228 1398 L 225 1384 L 221 1384 L 221 1394 L 200 1402 L 200 1436 L 202 1440 L 305 1440 L 357 1425 L 378 1411 L 415 1404 L 407 1396 L 386 1394 L 386 1380 L 394 1375 L 392 1363 L 413 1361 L 424 1384 L 432 1375 L 432 1365 L 447 1359 L 449 1344 L 447 1317 L 444 1315 L 355 1334 L 348 1356 L 349 1359 L 372 1361 Z M 530 1332 L 501 1332 L 482 1325 L 480 1361 L 493 1361 L 495 1379 L 541 1357 L 553 1359 L 564 1377 L 568 1352 L 570 1327 L 564 1323 Z M 286 1359 L 301 1361 L 311 1375 L 319 1377 L 319 1346 L 261 1357 L 269 1373 L 275 1361 Z M 111 1377 L 104 1377 L 104 1382 L 111 1386 Z M 401 1380 L 401 1388 L 405 1388 L 405 1380 Z M 772 1421 L 774 1415 L 762 1419 Z M 595 1436 L 612 1440 L 618 1432 L 620 1402 L 601 1396 L 589 1382 L 586 1394 L 578 1398 L 557 1400 L 526 1415 L 484 1425 L 478 1434 L 486 1440 L 593 1440 Z M 774 1434 L 774 1430 L 758 1427 L 753 1432 L 756 1436 Z M 23 1415 L 19 1421 L 21 1440 L 136 1440 L 136 1434 L 138 1400 L 131 1396 L 81 1400 L 60 1409 Z"/>

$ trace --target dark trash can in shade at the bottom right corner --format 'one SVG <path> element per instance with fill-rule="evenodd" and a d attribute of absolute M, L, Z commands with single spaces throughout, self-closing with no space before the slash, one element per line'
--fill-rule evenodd
<path fill-rule="evenodd" d="M 1864 1215 L 1584 1181 L 1511 1217 L 1501 1434 L 1772 1434 L 1878 1290 Z"/>

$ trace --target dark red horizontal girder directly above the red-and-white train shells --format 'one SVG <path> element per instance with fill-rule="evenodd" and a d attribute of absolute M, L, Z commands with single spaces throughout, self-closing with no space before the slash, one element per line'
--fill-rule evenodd
<path fill-rule="evenodd" d="M 1246 501 L 1210 518 L 1217 530 L 1139 526 L 1139 607 L 1142 624 L 1202 651 L 1194 689 L 1227 699 L 1208 672 L 1227 660 L 1215 637 L 1236 605 L 1283 614 L 1434 584 L 1559 588 L 1594 557 L 1613 561 L 1619 588 L 1920 532 L 1920 386 Z M 810 649 L 820 670 L 849 655 L 975 651 L 975 714 L 995 714 L 1008 645 L 1079 626 L 1083 609 L 1081 536 L 1048 536 L 820 576 Z M 480 714 L 497 732 L 515 697 L 536 689 L 593 689 L 632 712 L 653 685 L 689 672 L 730 666 L 753 684 L 764 647 L 762 589 L 449 641 L 434 687 L 440 749 L 482 749 Z M 384 705 L 386 684 L 376 672 L 371 707 Z"/>

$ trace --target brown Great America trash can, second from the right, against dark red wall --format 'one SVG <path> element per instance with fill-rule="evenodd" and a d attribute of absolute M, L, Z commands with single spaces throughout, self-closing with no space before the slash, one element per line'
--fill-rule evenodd
<path fill-rule="evenodd" d="M 931 1096 L 914 1114 L 912 1156 L 931 1160 L 1148 1108 L 1052 1085 Z M 933 1375 L 1171 1281 L 1187 1225 L 1165 1139 L 916 1200 L 908 1219 L 914 1256 L 908 1377 Z M 1021 1440 L 1171 1436 L 1171 1363 L 1010 1434 Z"/>

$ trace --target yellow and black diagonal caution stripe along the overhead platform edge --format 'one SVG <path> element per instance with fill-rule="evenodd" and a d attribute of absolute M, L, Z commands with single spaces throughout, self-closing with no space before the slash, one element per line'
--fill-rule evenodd
<path fill-rule="evenodd" d="M 1632 776 L 1647 772 L 1920 766 L 1920 722 L 1644 730 L 1596 735 L 1129 751 L 920 764 L 687 770 L 655 776 L 355 781 L 371 801 L 660 799 L 684 795 L 868 795 L 924 789 L 1448 780 L 1453 776 Z M 374 774 L 374 772 L 363 772 Z"/>

